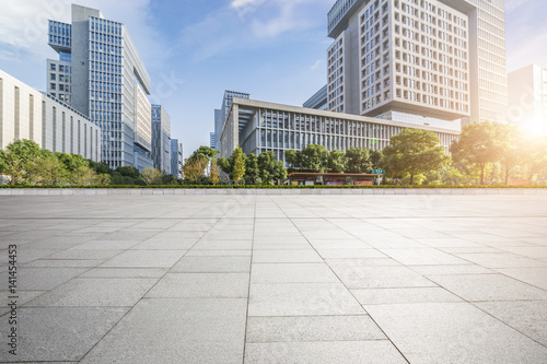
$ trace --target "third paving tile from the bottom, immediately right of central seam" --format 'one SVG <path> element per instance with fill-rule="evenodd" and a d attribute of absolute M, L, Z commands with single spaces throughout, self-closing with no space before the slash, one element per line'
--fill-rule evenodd
<path fill-rule="evenodd" d="M 340 283 L 252 284 L 248 316 L 363 315 Z"/>

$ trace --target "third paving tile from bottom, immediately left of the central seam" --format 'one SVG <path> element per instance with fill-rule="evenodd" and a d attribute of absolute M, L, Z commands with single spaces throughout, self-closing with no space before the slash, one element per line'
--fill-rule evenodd
<path fill-rule="evenodd" d="M 251 257 L 184 257 L 173 273 L 237 273 L 251 270 Z"/>

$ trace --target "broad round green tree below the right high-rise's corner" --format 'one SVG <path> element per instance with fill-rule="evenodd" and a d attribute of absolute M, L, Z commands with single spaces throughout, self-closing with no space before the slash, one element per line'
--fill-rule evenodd
<path fill-rule="evenodd" d="M 439 143 L 439 137 L 432 131 L 405 129 L 391 138 L 381 164 L 388 176 L 401 178 L 408 173 L 412 185 L 415 175 L 441 169 L 450 163 L 450 156 Z"/>

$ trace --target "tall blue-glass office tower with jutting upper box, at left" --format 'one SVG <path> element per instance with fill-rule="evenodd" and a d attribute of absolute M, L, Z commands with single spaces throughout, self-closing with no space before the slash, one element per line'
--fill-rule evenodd
<path fill-rule="evenodd" d="M 152 167 L 151 81 L 123 23 L 72 4 L 71 24 L 49 21 L 47 91 L 101 128 L 108 166 Z"/>

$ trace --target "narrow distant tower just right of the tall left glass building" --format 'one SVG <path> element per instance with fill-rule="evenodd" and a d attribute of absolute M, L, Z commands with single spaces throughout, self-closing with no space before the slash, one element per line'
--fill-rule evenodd
<path fill-rule="evenodd" d="M 154 168 L 171 174 L 171 118 L 161 105 L 152 105 L 152 161 Z"/>

